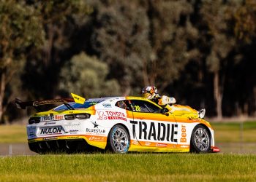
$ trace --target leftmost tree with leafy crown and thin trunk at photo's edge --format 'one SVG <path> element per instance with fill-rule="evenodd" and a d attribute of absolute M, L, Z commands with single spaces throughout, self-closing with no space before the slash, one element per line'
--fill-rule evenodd
<path fill-rule="evenodd" d="M 6 87 L 23 68 L 26 52 L 44 40 L 38 12 L 25 1 L 0 1 L 0 119 L 10 100 Z M 8 95 L 10 98 L 10 95 Z"/>

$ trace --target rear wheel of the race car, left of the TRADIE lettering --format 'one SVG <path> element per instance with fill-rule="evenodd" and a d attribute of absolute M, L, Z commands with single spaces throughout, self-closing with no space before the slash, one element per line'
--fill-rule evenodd
<path fill-rule="evenodd" d="M 116 124 L 110 130 L 108 137 L 109 149 L 116 153 L 127 153 L 129 149 L 129 133 L 121 124 Z"/>

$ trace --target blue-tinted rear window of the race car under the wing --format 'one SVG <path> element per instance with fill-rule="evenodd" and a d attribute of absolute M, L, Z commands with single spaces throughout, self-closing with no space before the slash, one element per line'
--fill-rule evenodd
<path fill-rule="evenodd" d="M 69 105 L 72 108 L 89 108 L 91 106 L 94 106 L 97 103 L 101 103 L 104 100 L 86 100 L 85 103 L 80 104 L 80 103 L 69 103 Z M 64 104 L 62 104 L 61 106 L 58 106 L 56 108 L 53 108 L 53 111 L 64 111 L 64 110 L 69 110 L 69 108 L 67 108 L 67 106 L 65 106 Z"/>

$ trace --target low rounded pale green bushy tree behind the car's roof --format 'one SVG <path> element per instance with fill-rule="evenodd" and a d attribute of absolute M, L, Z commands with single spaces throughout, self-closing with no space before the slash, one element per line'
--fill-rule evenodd
<path fill-rule="evenodd" d="M 120 95 L 118 82 L 107 80 L 108 74 L 106 63 L 81 52 L 61 69 L 59 89 L 66 94 L 74 92 L 86 98 Z"/>

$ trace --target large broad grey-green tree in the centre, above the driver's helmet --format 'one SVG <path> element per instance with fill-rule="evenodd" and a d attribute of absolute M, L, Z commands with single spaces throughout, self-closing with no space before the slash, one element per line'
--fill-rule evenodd
<path fill-rule="evenodd" d="M 92 44 L 124 94 L 131 88 L 139 93 L 147 84 L 164 90 L 197 55 L 187 44 L 198 33 L 189 23 L 193 9 L 185 0 L 105 1 L 94 8 Z"/>

